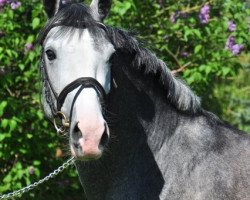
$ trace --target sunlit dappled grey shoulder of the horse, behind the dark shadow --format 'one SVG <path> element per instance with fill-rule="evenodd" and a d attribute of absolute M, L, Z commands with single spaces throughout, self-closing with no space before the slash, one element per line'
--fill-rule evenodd
<path fill-rule="evenodd" d="M 249 199 L 249 143 L 248 135 L 207 116 L 184 117 L 164 149 L 161 199 Z"/>

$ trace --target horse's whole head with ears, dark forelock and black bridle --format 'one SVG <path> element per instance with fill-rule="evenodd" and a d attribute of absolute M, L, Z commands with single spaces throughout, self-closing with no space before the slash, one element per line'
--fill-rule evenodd
<path fill-rule="evenodd" d="M 102 21 L 111 1 L 93 0 L 89 7 L 63 2 L 43 1 L 48 15 L 40 33 L 43 107 L 50 119 L 59 116 L 67 127 L 74 157 L 98 159 L 109 140 L 105 96 L 115 48 Z"/>

